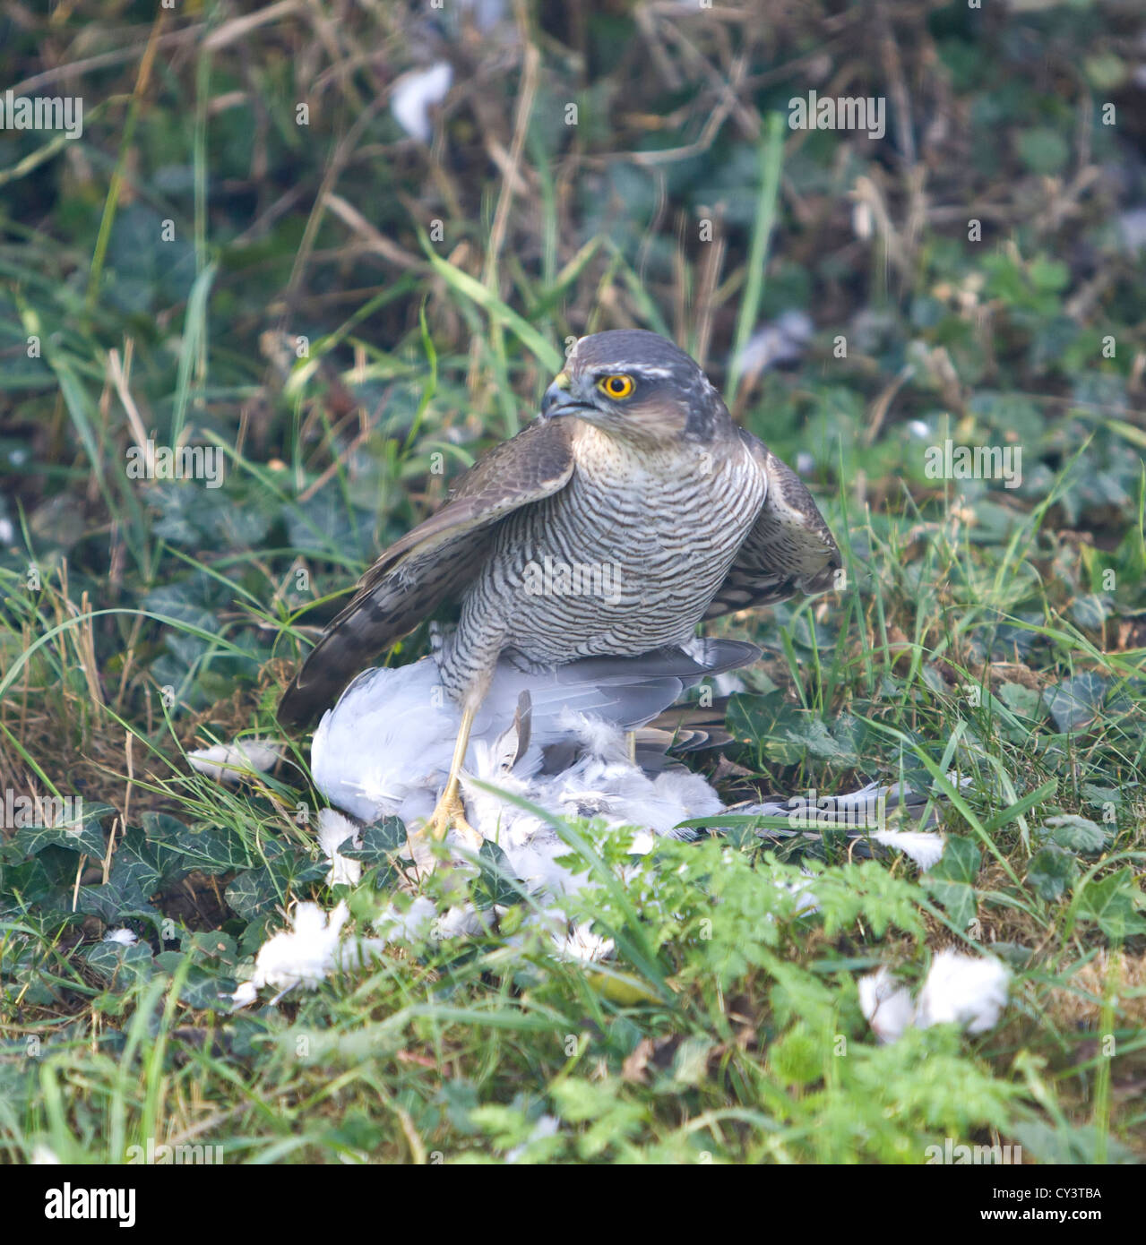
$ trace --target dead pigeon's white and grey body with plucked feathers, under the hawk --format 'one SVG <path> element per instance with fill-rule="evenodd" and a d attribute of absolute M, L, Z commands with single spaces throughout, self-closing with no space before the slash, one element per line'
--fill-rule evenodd
<path fill-rule="evenodd" d="M 902 850 L 921 869 L 931 868 L 942 857 L 942 834 L 924 825 L 874 829 L 864 818 L 877 806 L 886 810 L 902 804 L 918 820 L 927 803 L 922 796 L 872 783 L 815 806 L 797 797 L 725 808 L 703 776 L 665 756 L 671 742 L 668 732 L 642 732 L 686 688 L 704 680 L 715 681 L 757 656 L 752 645 L 696 640 L 642 657 L 590 657 L 541 672 L 521 669 L 511 656 L 501 659 L 470 737 L 462 773 L 466 815 L 483 839 L 497 844 L 503 868 L 533 900 L 534 908 L 522 925 L 541 925 L 552 939 L 554 954 L 593 961 L 609 956 L 613 944 L 590 926 L 573 923 L 563 910 L 563 900 L 588 881 L 588 870 L 558 863 L 568 859 L 571 849 L 552 824 L 552 815 L 635 827 L 630 863 L 623 867 L 625 875 L 640 870 L 640 858 L 651 850 L 658 835 L 690 837 L 698 832 L 681 828 L 681 822 L 721 814 L 784 817 L 790 828 L 757 832 L 777 842 L 800 835 L 816 838 L 825 827 L 833 825 Z M 359 845 L 366 824 L 399 817 L 415 829 L 429 817 L 446 782 L 458 721 L 455 702 L 445 695 L 437 665 L 430 657 L 409 666 L 365 671 L 325 713 L 314 736 L 311 773 L 331 806 L 320 812 L 318 827 L 319 843 L 330 862 L 331 885 L 360 880 L 361 864 L 340 849 Z M 627 732 L 637 732 L 635 757 L 643 764 L 630 752 Z M 447 844 L 457 869 L 475 868 L 472 847 L 452 835 Z M 807 908 L 815 906 L 815 893 L 808 886 Z M 328 919 L 316 905 L 300 904 L 294 929 L 274 935 L 260 950 L 254 977 L 240 987 L 235 1003 L 252 1002 L 262 987 L 313 987 L 326 974 L 361 964 L 387 944 L 487 933 L 503 911 L 497 905 L 478 910 L 470 903 L 442 909 L 419 895 L 412 903 L 387 906 L 374 920 L 377 936 L 359 939 L 351 946 L 340 940 L 345 905 L 340 904 Z M 523 936 L 524 929 L 507 942 Z M 868 994 L 876 985 L 884 984 L 874 979 L 864 984 Z M 992 977 L 992 1002 L 1000 1007 L 1005 981 Z M 891 995 L 889 977 L 881 992 Z M 867 1011 L 877 1025 L 874 994 L 868 1002 Z M 879 1010 L 877 1032 L 884 1040 L 897 1036 L 916 1015 L 916 1008 L 903 1002 L 898 1008 L 904 1012 L 903 1023 L 884 1025 L 901 1002 L 898 997 L 894 1003 L 888 998 Z M 921 996 L 921 1018 L 914 1023 L 927 1023 L 929 1015 Z M 990 1022 L 995 1015 L 997 1010 Z"/>

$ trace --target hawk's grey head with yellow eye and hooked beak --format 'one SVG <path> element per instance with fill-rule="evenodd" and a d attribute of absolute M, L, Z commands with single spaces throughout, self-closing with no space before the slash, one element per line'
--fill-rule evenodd
<path fill-rule="evenodd" d="M 582 337 L 546 390 L 543 418 L 575 415 L 642 442 L 709 442 L 731 432 L 720 395 L 668 337 L 617 329 Z"/>

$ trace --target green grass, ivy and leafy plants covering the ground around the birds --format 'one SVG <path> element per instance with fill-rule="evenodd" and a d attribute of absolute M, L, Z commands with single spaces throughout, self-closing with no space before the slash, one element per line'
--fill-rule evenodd
<path fill-rule="evenodd" d="M 5 1160 L 1146 1153 L 1134 0 L 0 24 L 5 87 L 83 102 L 77 137 L 0 132 Z M 791 128 L 810 91 L 884 101 L 886 132 Z M 619 981 L 491 937 L 230 1013 L 290 905 L 335 896 L 305 740 L 233 789 L 186 752 L 278 736 L 335 594 L 531 417 L 566 339 L 623 326 L 708 367 L 845 549 L 838 591 L 720 625 L 765 660 L 708 772 L 729 801 L 934 783 L 944 860 L 827 838 L 810 913 L 751 833 L 669 843 L 584 896 Z M 963 478 L 948 439 L 1020 468 Z M 217 448 L 220 487 L 137 478 L 148 441 Z M 81 832 L 24 824 L 34 796 L 82 799 Z M 362 923 L 392 883 L 366 854 Z M 1011 967 L 1002 1023 L 881 1046 L 857 979 L 944 947 Z"/>

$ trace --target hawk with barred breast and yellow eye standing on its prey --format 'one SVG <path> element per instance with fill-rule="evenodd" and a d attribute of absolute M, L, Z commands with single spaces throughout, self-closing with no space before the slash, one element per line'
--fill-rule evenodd
<path fill-rule="evenodd" d="M 419 832 L 465 828 L 458 772 L 498 657 L 549 669 L 688 644 L 699 622 L 833 586 L 840 550 L 811 494 L 737 427 L 665 337 L 582 337 L 539 418 L 480 459 L 395 542 L 326 627 L 279 705 L 304 726 L 438 608 L 435 647 L 461 711 L 442 796 Z"/>

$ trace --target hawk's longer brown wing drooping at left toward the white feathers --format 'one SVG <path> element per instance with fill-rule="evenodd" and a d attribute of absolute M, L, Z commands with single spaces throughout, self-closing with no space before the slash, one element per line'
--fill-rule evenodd
<path fill-rule="evenodd" d="M 473 579 L 497 523 L 559 492 L 573 474 L 571 417 L 531 425 L 458 481 L 450 500 L 362 575 L 279 702 L 283 726 L 305 726 L 382 649 L 453 600 Z"/>

